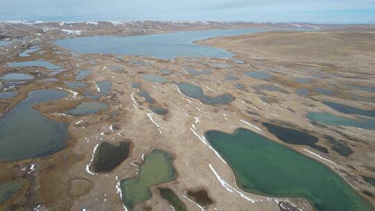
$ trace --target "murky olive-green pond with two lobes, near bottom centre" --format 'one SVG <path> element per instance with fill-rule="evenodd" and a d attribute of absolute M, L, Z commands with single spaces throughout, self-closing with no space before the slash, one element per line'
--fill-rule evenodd
<path fill-rule="evenodd" d="M 149 187 L 151 185 L 174 180 L 177 173 L 172 162 L 172 155 L 159 149 L 154 149 L 145 156 L 138 178 L 125 178 L 120 182 L 122 201 L 126 208 L 133 210 L 134 205 L 150 199 L 152 193 Z"/>

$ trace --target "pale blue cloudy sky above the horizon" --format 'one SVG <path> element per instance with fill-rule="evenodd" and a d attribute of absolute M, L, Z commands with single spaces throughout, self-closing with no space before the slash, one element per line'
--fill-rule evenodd
<path fill-rule="evenodd" d="M 375 23 L 375 0 L 0 0 L 0 20 Z"/>

